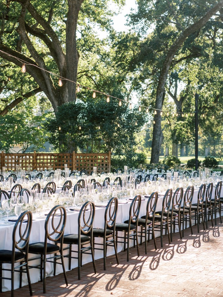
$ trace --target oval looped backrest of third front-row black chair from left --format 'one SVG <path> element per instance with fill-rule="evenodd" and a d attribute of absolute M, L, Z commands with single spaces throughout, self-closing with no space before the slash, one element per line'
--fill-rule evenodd
<path fill-rule="evenodd" d="M 93 230 L 93 223 L 95 218 L 95 205 L 93 201 L 87 201 L 81 207 L 78 215 L 78 236 L 87 234 Z"/>

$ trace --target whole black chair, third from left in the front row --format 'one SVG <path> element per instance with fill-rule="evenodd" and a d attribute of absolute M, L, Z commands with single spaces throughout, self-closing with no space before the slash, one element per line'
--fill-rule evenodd
<path fill-rule="evenodd" d="M 67 234 L 64 236 L 64 243 L 69 244 L 69 247 L 64 248 L 64 250 L 69 249 L 69 254 L 65 255 L 64 257 L 69 258 L 69 270 L 71 268 L 71 259 L 78 259 L 78 279 L 81 279 L 82 254 L 89 254 L 88 251 L 91 251 L 94 272 L 97 273 L 96 267 L 95 267 L 95 257 L 94 257 L 94 249 L 93 249 L 94 218 L 95 218 L 95 205 L 92 201 L 87 201 L 81 207 L 81 210 L 78 215 L 78 234 Z M 78 246 L 77 251 L 72 250 L 73 244 L 76 244 Z M 86 246 L 86 244 L 88 246 L 84 247 Z M 78 253 L 78 257 L 71 256 L 72 252 Z"/>

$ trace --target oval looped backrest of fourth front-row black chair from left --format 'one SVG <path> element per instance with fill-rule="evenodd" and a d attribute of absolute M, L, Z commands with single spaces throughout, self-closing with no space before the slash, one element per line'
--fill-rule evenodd
<path fill-rule="evenodd" d="M 112 197 L 105 209 L 105 232 L 106 228 L 113 228 L 113 232 L 115 232 L 115 222 L 118 211 L 118 199 L 116 197 Z"/>

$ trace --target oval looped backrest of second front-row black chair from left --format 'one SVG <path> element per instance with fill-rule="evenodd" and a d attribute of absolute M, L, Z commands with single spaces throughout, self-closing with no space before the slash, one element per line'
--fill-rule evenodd
<path fill-rule="evenodd" d="M 59 220 L 58 220 L 59 216 Z M 63 206 L 54 206 L 48 213 L 45 220 L 45 241 L 44 249 L 46 251 L 47 239 L 63 243 L 64 228 L 66 225 L 66 209 Z M 59 221 L 59 222 L 58 222 Z"/>

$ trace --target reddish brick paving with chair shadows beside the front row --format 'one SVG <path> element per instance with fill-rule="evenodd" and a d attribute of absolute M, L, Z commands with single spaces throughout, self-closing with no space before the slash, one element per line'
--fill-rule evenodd
<path fill-rule="evenodd" d="M 86 264 L 79 281 L 77 268 L 68 271 L 68 287 L 62 274 L 48 277 L 47 293 L 43 294 L 42 283 L 38 282 L 32 285 L 33 296 L 223 296 L 223 224 L 219 219 L 217 222 L 213 228 L 209 223 L 208 229 L 200 233 L 193 226 L 194 235 L 187 229 L 183 239 L 175 233 L 171 244 L 164 236 L 163 248 L 157 238 L 157 250 L 150 241 L 147 255 L 144 244 L 140 246 L 140 257 L 136 248 L 131 248 L 129 262 L 126 252 L 119 253 L 119 265 L 114 256 L 108 257 L 106 271 L 103 259 L 97 260 L 97 274 L 92 273 L 92 263 Z M 28 287 L 15 290 L 15 296 L 29 296 Z"/>

